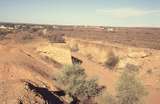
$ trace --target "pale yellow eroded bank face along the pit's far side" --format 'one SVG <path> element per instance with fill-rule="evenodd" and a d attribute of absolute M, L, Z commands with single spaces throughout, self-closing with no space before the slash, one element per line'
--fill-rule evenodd
<path fill-rule="evenodd" d="M 67 44 L 74 48 L 78 48 L 78 52 L 96 61 L 97 63 L 104 63 L 108 54 L 112 51 L 120 59 L 122 58 L 145 58 L 159 53 L 158 50 L 147 48 L 136 48 L 121 44 L 112 44 L 103 41 L 91 41 L 84 39 L 66 38 Z"/>

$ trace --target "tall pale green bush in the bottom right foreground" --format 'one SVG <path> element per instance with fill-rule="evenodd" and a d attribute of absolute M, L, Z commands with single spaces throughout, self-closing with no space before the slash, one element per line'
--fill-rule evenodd
<path fill-rule="evenodd" d="M 145 95 L 144 85 L 136 78 L 136 73 L 131 73 L 126 68 L 118 80 L 117 97 L 119 104 L 140 104 Z"/>

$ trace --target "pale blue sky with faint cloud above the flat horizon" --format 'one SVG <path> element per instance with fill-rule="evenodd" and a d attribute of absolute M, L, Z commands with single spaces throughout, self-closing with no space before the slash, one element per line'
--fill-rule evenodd
<path fill-rule="evenodd" d="M 160 27 L 160 0 L 0 0 L 0 22 Z"/>

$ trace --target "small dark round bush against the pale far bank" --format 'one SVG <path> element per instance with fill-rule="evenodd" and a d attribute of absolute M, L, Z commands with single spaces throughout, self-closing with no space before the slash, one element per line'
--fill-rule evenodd
<path fill-rule="evenodd" d="M 114 54 L 114 52 L 111 51 L 111 52 L 109 52 L 108 58 L 105 61 L 105 66 L 110 68 L 110 69 L 113 69 L 118 64 L 118 62 L 119 62 L 119 57 L 116 56 Z"/>

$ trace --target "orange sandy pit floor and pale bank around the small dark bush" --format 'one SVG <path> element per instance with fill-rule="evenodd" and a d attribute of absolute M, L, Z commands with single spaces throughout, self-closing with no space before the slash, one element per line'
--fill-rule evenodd
<path fill-rule="evenodd" d="M 67 43 L 71 47 L 77 44 L 78 51 L 73 55 L 83 61 L 82 66 L 85 67 L 89 76 L 98 77 L 100 84 L 106 85 L 111 92 L 114 91 L 118 76 L 122 72 L 121 69 L 128 63 L 137 65 L 139 67 L 138 77 L 144 82 L 149 93 L 146 104 L 159 104 L 159 50 L 74 38 L 68 38 Z M 107 71 L 108 69 L 102 64 L 107 59 L 107 54 L 110 51 L 113 51 L 119 57 L 115 72 Z"/>

